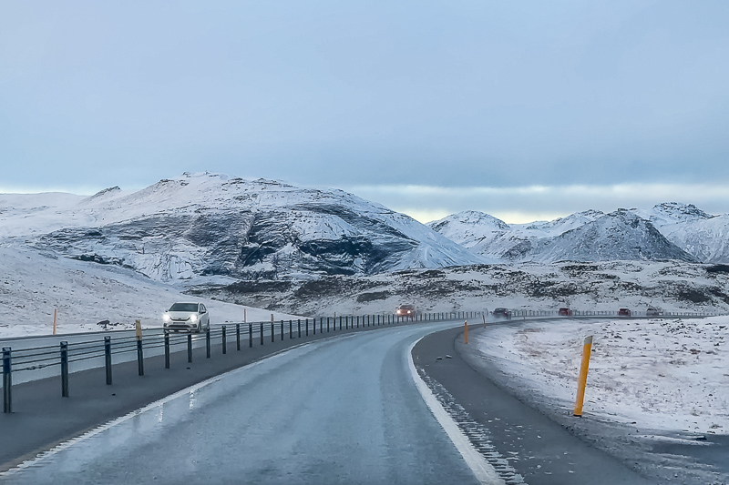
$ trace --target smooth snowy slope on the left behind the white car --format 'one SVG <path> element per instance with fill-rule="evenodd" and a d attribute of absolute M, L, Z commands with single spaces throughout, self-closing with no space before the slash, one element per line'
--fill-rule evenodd
<path fill-rule="evenodd" d="M 177 288 L 126 268 L 59 258 L 17 245 L 0 246 L 0 338 L 47 335 L 57 309 L 58 333 L 161 325 L 161 314 L 175 301 L 201 301 L 213 325 L 226 321 L 268 321 L 301 318 L 261 308 L 243 307 L 209 298 L 193 298 Z M 115 325 L 119 324 L 119 325 Z"/>

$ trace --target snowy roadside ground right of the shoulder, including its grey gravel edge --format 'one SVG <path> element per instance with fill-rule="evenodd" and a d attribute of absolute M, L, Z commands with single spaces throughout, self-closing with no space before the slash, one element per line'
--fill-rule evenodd
<path fill-rule="evenodd" d="M 590 335 L 583 418 L 576 419 L 582 345 Z M 472 342 L 504 386 L 635 468 L 666 481 L 725 483 L 729 470 L 712 462 L 717 453 L 708 448 L 725 457 L 727 340 L 729 317 L 564 318 L 488 328 Z"/>

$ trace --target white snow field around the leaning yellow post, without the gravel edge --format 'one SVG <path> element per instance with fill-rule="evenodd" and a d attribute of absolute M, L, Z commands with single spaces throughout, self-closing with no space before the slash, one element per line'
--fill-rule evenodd
<path fill-rule="evenodd" d="M 729 317 L 524 321 L 476 332 L 514 387 L 571 413 L 593 336 L 584 417 L 642 429 L 729 433 Z"/>

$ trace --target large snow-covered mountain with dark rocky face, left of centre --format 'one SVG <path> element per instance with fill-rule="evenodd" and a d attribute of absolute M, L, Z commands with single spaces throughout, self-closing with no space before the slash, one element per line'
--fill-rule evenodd
<path fill-rule="evenodd" d="M 92 197 L 3 196 L 5 238 L 159 280 L 312 278 L 487 262 L 341 190 L 185 174 Z"/>

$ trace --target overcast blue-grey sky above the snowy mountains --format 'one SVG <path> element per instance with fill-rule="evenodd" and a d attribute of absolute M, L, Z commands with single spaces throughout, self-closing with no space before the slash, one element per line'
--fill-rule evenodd
<path fill-rule="evenodd" d="M 183 171 L 430 220 L 729 212 L 729 2 L 0 2 L 0 192 Z"/>

